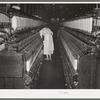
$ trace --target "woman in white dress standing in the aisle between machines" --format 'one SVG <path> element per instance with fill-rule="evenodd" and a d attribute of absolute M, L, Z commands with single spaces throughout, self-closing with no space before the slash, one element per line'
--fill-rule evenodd
<path fill-rule="evenodd" d="M 54 43 L 53 43 L 53 32 L 48 28 L 44 27 L 40 30 L 41 38 L 44 37 L 44 55 L 46 55 L 46 60 L 51 60 L 51 54 L 54 52 Z"/>

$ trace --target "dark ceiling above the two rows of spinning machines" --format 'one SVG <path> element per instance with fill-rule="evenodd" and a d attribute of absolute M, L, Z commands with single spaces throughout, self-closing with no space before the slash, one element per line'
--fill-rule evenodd
<path fill-rule="evenodd" d="M 0 4 L 0 9 L 3 10 L 6 4 Z M 29 16 L 38 15 L 44 20 L 51 18 L 64 18 L 69 20 L 78 16 L 83 16 L 87 13 L 93 13 L 93 9 L 97 4 L 10 4 L 19 5 L 20 13 Z M 97 5 L 100 7 L 100 4 Z"/>

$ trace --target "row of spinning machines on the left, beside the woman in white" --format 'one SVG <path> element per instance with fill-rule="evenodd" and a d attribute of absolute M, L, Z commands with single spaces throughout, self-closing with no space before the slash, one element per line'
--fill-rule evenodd
<path fill-rule="evenodd" d="M 0 88 L 36 88 L 43 61 L 39 30 L 46 23 L 23 15 L 0 13 Z"/>

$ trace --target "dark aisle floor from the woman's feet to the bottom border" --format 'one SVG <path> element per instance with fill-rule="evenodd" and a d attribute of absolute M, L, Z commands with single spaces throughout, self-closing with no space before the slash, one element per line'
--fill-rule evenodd
<path fill-rule="evenodd" d="M 59 62 L 58 62 L 59 64 Z M 51 61 L 44 61 L 40 71 L 38 89 L 64 89 L 65 80 L 60 65 Z"/>

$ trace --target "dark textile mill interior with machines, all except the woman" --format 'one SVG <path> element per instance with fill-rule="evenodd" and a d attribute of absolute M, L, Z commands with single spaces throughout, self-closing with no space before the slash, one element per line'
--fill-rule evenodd
<path fill-rule="evenodd" d="M 46 60 L 40 30 L 53 32 Z M 0 4 L 0 89 L 100 89 L 100 4 Z"/>

